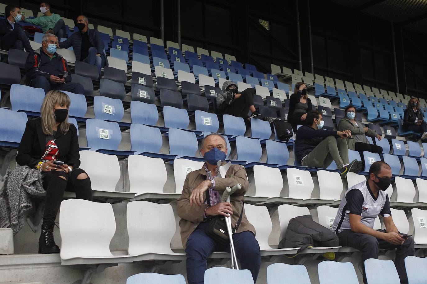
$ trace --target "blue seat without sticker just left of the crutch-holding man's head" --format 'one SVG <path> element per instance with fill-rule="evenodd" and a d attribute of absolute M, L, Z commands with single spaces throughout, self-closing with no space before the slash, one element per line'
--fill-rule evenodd
<path fill-rule="evenodd" d="M 169 129 L 169 154 L 176 158 L 185 158 L 193 161 L 204 161 L 202 157 L 195 157 L 199 143 L 194 132 L 181 129 Z M 171 161 L 173 163 L 173 161 Z"/>

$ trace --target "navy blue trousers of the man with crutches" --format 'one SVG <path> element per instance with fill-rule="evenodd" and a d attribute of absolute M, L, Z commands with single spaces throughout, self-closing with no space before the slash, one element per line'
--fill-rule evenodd
<path fill-rule="evenodd" d="M 188 284 L 204 283 L 207 259 L 212 252 L 230 252 L 229 244 L 225 246 L 217 244 L 206 235 L 205 229 L 208 227 L 208 223 L 209 221 L 200 223 L 185 244 Z M 241 264 L 239 268 L 250 270 L 254 282 L 256 282 L 261 266 L 261 253 L 255 235 L 250 231 L 236 233 L 233 235 L 233 242 L 236 256 Z"/>

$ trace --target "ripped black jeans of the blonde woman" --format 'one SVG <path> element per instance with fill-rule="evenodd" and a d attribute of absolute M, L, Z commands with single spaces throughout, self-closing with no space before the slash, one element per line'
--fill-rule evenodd
<path fill-rule="evenodd" d="M 67 174 L 63 171 L 44 173 L 43 187 L 46 190 L 46 204 L 43 214 L 43 224 L 53 225 L 55 223 L 56 214 L 58 213 L 65 190 L 76 192 L 76 198 L 92 201 L 91 179 L 89 177 L 77 179 L 77 176 L 82 173 L 85 173 L 82 169 L 73 169 Z"/>

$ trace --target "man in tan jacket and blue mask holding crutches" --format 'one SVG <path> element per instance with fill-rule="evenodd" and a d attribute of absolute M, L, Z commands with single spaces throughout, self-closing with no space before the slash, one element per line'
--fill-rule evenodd
<path fill-rule="evenodd" d="M 236 229 L 233 235 L 234 248 L 241 268 L 251 271 L 254 282 L 260 270 L 260 247 L 255 239 L 255 229 L 242 210 L 249 184 L 246 170 L 241 165 L 232 164 L 225 177 L 218 176 L 217 162 L 222 161 L 221 165 L 225 165 L 227 151 L 227 144 L 221 135 L 212 133 L 206 136 L 201 149 L 205 164 L 202 169 L 187 175 L 181 197 L 177 200 L 189 284 L 203 283 L 207 259 L 212 252 L 230 251 L 229 244 L 221 245 L 205 232 L 211 218 L 219 215 L 231 215 L 231 227 Z M 222 202 L 221 195 L 225 188 L 236 184 L 241 184 L 242 188 L 230 196 L 230 202 Z M 236 226 L 240 215 L 240 225 Z"/>

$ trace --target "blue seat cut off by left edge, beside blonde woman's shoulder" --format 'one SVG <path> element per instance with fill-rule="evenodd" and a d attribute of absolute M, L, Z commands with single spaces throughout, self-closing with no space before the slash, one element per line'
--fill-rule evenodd
<path fill-rule="evenodd" d="M 28 118 L 24 112 L 0 108 L 0 146 L 18 148 Z"/>

